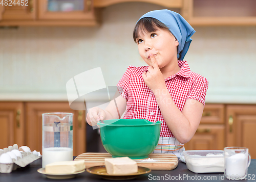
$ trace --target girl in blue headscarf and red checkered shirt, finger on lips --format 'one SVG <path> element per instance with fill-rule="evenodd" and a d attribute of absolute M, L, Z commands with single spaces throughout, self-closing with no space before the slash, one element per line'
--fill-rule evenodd
<path fill-rule="evenodd" d="M 154 153 L 180 157 L 184 143 L 195 134 L 204 109 L 208 81 L 183 61 L 194 29 L 178 13 L 156 10 L 136 23 L 133 38 L 148 66 L 129 66 L 117 84 L 120 96 L 102 110 L 92 108 L 87 122 L 118 119 L 163 121 Z"/>

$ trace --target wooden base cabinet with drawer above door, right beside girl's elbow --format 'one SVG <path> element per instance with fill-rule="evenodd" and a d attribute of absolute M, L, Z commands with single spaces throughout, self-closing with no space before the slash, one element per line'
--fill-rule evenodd
<path fill-rule="evenodd" d="M 205 104 L 196 134 L 185 143 L 186 150 L 223 150 L 225 147 L 225 106 Z"/>

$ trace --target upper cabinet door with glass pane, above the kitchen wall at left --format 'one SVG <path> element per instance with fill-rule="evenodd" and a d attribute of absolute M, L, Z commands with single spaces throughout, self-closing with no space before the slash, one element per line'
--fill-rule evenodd
<path fill-rule="evenodd" d="M 94 20 L 93 0 L 38 0 L 38 19 Z"/>

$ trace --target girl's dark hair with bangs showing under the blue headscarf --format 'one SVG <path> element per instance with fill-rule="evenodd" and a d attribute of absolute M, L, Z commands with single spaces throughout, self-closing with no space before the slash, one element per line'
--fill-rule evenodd
<path fill-rule="evenodd" d="M 135 25 L 133 31 L 133 40 L 136 42 L 136 39 L 139 37 L 139 32 L 155 32 L 158 28 L 169 30 L 168 27 L 161 21 L 156 18 L 145 17 L 141 18 Z"/>

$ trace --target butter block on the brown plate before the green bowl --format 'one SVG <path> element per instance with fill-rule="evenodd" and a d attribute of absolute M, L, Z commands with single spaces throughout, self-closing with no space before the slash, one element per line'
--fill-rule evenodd
<path fill-rule="evenodd" d="M 129 157 L 106 158 L 106 172 L 108 174 L 131 174 L 138 172 L 138 165 Z"/>

